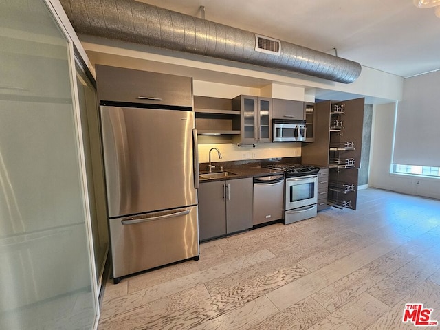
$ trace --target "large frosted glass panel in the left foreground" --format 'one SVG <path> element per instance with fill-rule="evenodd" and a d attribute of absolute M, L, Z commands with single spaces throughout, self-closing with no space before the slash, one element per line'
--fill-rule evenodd
<path fill-rule="evenodd" d="M 92 329 L 69 44 L 43 0 L 0 12 L 0 329 Z"/>

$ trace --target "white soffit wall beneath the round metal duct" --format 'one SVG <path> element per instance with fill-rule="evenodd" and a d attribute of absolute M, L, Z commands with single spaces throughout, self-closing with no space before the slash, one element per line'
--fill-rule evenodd
<path fill-rule="evenodd" d="M 294 86 L 305 88 L 307 96 L 314 96 L 315 91 L 320 89 L 321 91 L 329 91 L 329 95 L 335 95 L 333 93 L 335 91 L 342 92 L 347 94 L 349 98 L 365 96 L 371 99 L 401 100 L 403 78 L 370 67 L 362 67 L 362 73 L 354 83 L 344 84 L 311 76 L 286 73 L 276 69 L 221 61 L 183 52 L 159 50 L 145 45 L 123 43 L 94 36 L 80 35 L 80 40 L 91 63 L 94 64 L 118 65 L 147 71 L 192 76 L 195 80 L 230 83 L 232 85 L 255 87 L 258 84 L 259 87 L 263 87 L 274 83 Z M 281 89 L 278 89 L 278 91 L 281 91 Z M 298 91 L 301 93 L 300 90 Z M 320 96 L 323 95 L 320 94 Z M 326 99 L 336 98 L 332 96 Z M 309 99 L 307 101 L 310 102 Z"/>

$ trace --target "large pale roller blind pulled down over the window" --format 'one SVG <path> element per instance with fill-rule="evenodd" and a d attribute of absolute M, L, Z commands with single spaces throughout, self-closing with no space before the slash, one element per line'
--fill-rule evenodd
<path fill-rule="evenodd" d="M 440 72 L 404 80 L 393 164 L 440 166 Z"/>

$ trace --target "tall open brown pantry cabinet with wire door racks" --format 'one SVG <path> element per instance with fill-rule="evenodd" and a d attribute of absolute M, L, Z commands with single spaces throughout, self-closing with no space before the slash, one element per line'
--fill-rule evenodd
<path fill-rule="evenodd" d="M 356 209 L 364 99 L 314 104 L 314 142 L 303 144 L 303 163 L 328 166 L 327 203 Z"/>

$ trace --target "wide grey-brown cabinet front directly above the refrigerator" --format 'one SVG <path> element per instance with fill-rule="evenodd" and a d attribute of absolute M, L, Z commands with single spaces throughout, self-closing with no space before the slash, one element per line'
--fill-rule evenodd
<path fill-rule="evenodd" d="M 96 65 L 99 101 L 192 107 L 192 78 Z"/>

